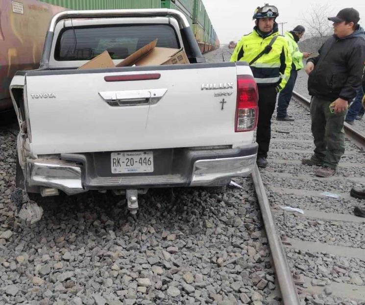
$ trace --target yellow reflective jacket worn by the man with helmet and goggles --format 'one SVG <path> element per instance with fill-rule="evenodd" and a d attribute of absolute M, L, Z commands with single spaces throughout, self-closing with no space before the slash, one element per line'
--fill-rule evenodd
<path fill-rule="evenodd" d="M 231 62 L 250 62 L 265 49 L 272 37 L 279 35 L 276 31 L 268 37 L 261 37 L 256 30 L 242 37 L 232 54 Z M 292 70 L 292 55 L 288 40 L 279 35 L 272 50 L 262 55 L 250 65 L 253 77 L 259 87 L 275 85 L 278 91 L 284 89 Z"/>

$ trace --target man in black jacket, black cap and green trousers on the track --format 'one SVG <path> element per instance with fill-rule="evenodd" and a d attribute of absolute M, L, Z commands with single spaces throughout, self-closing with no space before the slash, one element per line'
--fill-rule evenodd
<path fill-rule="evenodd" d="M 302 163 L 321 166 L 315 173 L 318 177 L 334 175 L 345 152 L 343 122 L 348 102 L 360 89 L 365 62 L 365 33 L 358 25 L 359 12 L 344 8 L 328 20 L 333 21 L 334 35 L 305 67 L 316 149 Z"/>

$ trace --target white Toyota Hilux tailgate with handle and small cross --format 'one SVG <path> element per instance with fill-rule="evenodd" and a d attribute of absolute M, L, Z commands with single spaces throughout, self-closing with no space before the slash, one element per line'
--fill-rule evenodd
<path fill-rule="evenodd" d="M 221 63 L 153 70 L 29 72 L 26 96 L 32 151 L 49 154 L 251 143 L 252 131 L 235 132 L 236 69 Z M 125 80 L 141 75 L 155 79 Z M 114 79 L 106 81 L 105 76 Z M 233 88 L 224 85 L 228 83 Z M 210 89 L 214 84 L 222 88 Z M 216 93 L 231 95 L 215 97 Z"/>

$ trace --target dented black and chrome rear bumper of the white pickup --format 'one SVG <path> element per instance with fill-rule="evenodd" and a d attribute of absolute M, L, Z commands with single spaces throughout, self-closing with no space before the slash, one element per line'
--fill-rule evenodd
<path fill-rule="evenodd" d="M 25 180 L 30 187 L 58 189 L 68 195 L 88 190 L 221 185 L 253 171 L 257 144 L 236 149 L 160 150 L 154 154 L 163 166 L 148 174 L 109 173 L 106 164 L 110 164 L 110 152 L 27 159 Z"/>

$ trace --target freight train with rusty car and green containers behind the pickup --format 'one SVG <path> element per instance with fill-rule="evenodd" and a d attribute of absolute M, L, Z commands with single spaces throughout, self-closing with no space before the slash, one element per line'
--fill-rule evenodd
<path fill-rule="evenodd" d="M 0 125 L 11 117 L 10 80 L 39 66 L 53 15 L 64 10 L 170 8 L 184 13 L 202 53 L 219 39 L 202 0 L 0 0 Z"/>

